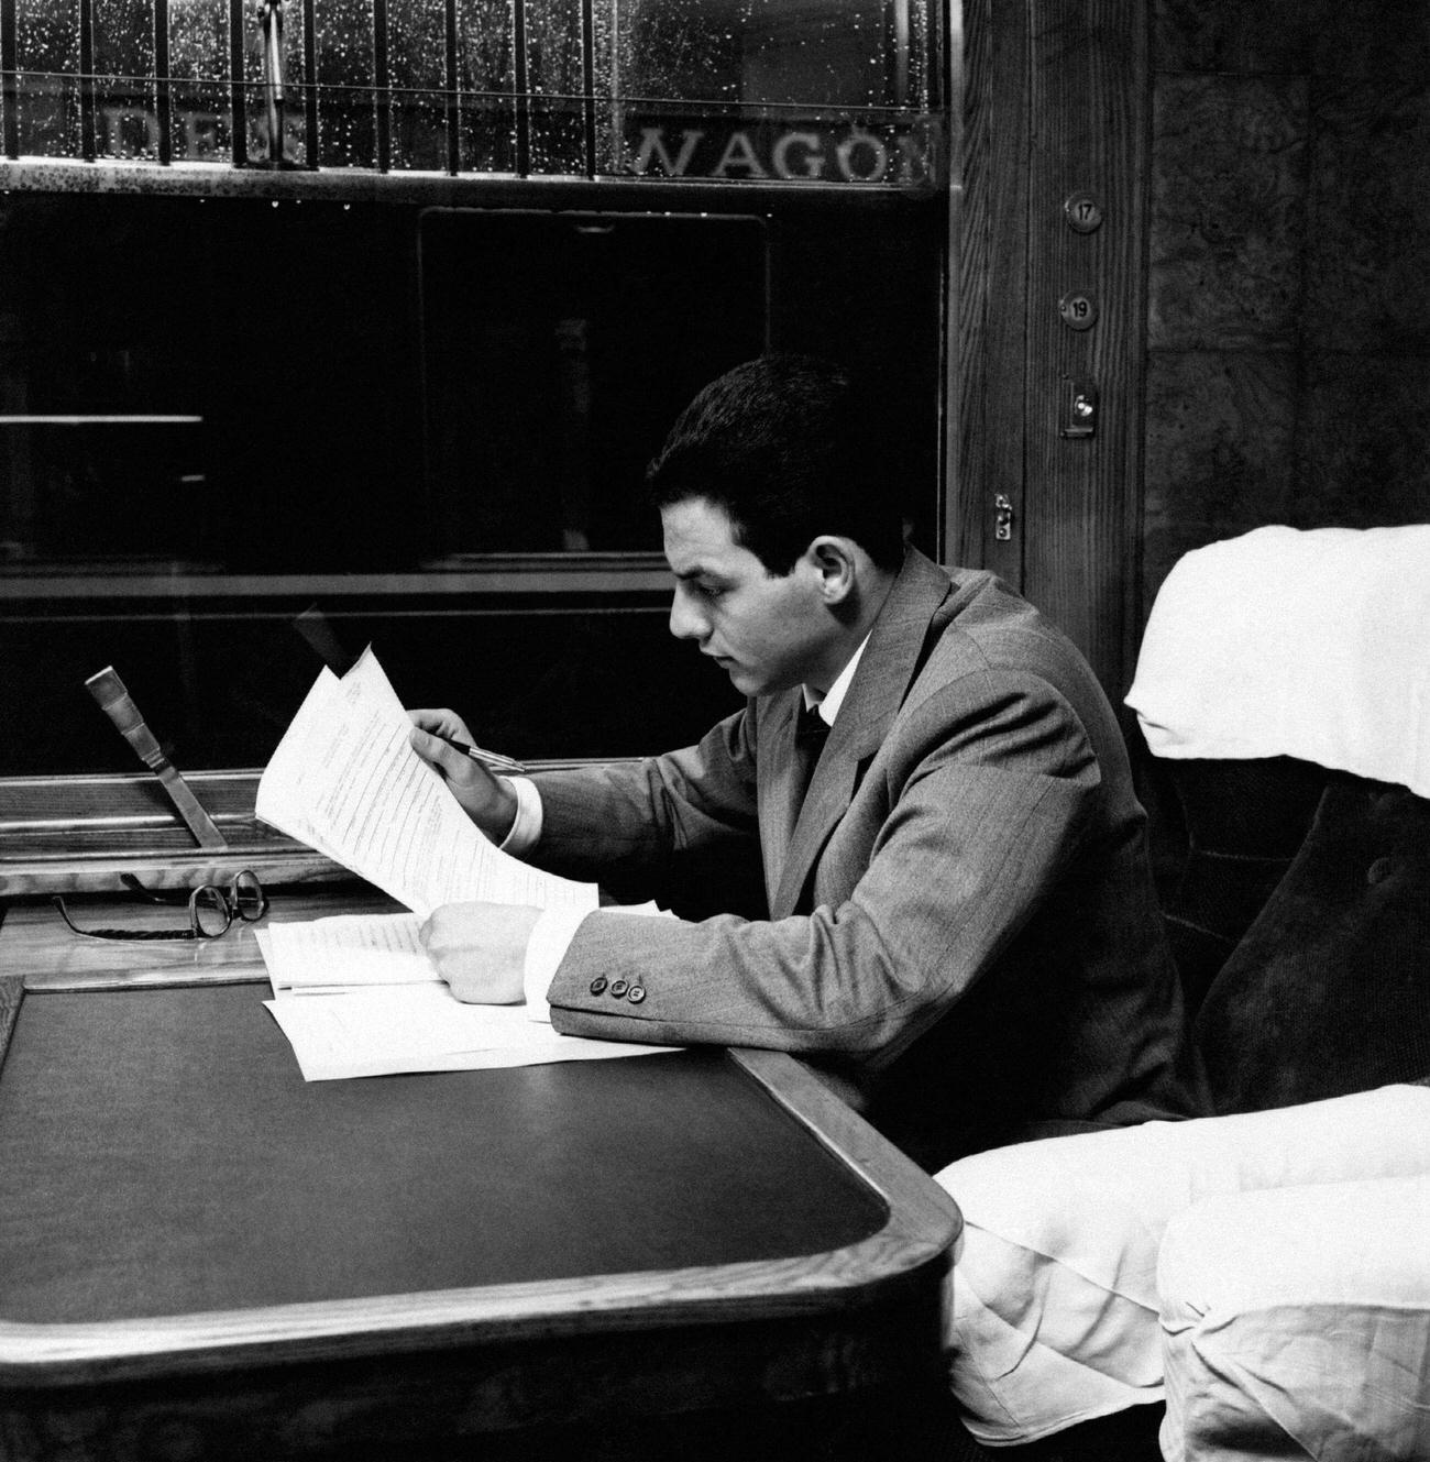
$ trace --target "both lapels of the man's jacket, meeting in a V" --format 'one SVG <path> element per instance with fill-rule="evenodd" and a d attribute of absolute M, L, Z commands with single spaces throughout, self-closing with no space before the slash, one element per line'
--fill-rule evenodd
<path fill-rule="evenodd" d="M 762 769 L 769 756 L 768 784 L 760 778 L 760 806 L 769 811 L 760 817 L 760 830 L 771 918 L 785 918 L 798 905 L 820 849 L 848 811 L 864 768 L 889 734 L 918 668 L 928 624 L 949 591 L 947 575 L 909 550 L 874 620 L 803 806 L 794 785 L 794 722 L 801 692 L 795 689 L 779 697 L 782 709 L 772 712 L 769 741 L 768 746 L 762 741 L 759 753 Z"/>

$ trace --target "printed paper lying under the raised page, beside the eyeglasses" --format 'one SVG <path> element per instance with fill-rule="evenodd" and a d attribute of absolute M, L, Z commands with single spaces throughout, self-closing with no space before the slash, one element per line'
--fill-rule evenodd
<path fill-rule="evenodd" d="M 440 984 L 418 939 L 421 925 L 415 914 L 330 914 L 253 933 L 278 997 Z"/>

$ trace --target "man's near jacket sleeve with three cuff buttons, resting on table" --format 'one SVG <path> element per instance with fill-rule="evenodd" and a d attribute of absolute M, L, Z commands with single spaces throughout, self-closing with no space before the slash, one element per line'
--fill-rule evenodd
<path fill-rule="evenodd" d="M 1029 917 L 1075 855 L 1098 787 L 1082 722 L 1047 681 L 983 671 L 946 684 L 901 716 L 835 829 L 823 863 L 864 860 L 845 896 L 778 921 L 592 915 L 553 981 L 553 1023 L 880 1066 Z"/>

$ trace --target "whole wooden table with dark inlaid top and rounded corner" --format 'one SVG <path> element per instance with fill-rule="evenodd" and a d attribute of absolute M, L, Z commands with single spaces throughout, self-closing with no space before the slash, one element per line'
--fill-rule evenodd
<path fill-rule="evenodd" d="M 442 1449 L 937 1385 L 958 1212 L 787 1056 L 304 1083 L 249 928 L 20 904 L 0 968 L 7 1459 L 487 1456 Z"/>

